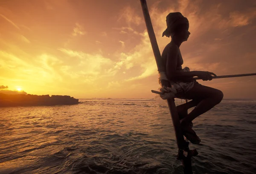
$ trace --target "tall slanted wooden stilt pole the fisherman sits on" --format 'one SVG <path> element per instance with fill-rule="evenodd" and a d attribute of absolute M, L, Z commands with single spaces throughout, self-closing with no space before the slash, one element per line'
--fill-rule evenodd
<path fill-rule="evenodd" d="M 140 3 L 142 6 L 146 27 L 148 30 L 148 36 L 149 36 L 151 46 L 154 52 L 154 57 L 157 63 L 158 72 L 159 73 L 164 72 L 164 67 L 161 61 L 161 54 L 157 45 L 157 39 L 154 34 L 154 29 L 151 23 L 146 0 L 140 0 Z M 161 84 L 162 86 L 170 87 L 169 81 L 162 80 Z M 197 155 L 198 153 L 196 150 L 189 150 L 189 142 L 186 142 L 184 140 L 183 133 L 180 127 L 180 119 L 177 113 L 177 108 L 176 108 L 174 99 L 168 99 L 167 102 L 168 102 L 169 110 L 172 116 L 172 124 L 175 130 L 177 146 L 179 148 L 177 159 L 182 160 L 184 174 L 192 174 L 193 172 L 191 167 L 191 157 Z"/>

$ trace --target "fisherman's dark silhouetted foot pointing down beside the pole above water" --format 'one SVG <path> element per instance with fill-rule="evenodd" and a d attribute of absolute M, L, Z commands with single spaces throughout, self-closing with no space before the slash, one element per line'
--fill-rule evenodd
<path fill-rule="evenodd" d="M 196 135 L 195 131 L 189 126 L 189 123 L 181 122 L 183 135 L 193 144 L 198 145 L 201 139 Z"/>

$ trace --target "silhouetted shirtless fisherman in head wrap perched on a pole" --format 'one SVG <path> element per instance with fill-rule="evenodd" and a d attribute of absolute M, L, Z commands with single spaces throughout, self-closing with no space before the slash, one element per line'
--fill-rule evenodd
<path fill-rule="evenodd" d="M 192 129 L 192 120 L 207 112 L 223 99 L 223 93 L 212 87 L 199 84 L 193 77 L 197 76 L 203 81 L 212 80 L 214 73 L 208 71 L 189 71 L 182 69 L 183 58 L 180 53 L 180 45 L 187 41 L 190 35 L 189 21 L 180 12 L 173 12 L 166 16 L 167 29 L 163 36 L 170 37 L 171 42 L 166 45 L 162 53 L 165 73 L 170 84 L 180 87 L 180 92 L 175 98 L 189 99 L 190 102 L 177 106 L 178 115 L 183 135 L 193 144 L 199 144 L 201 139 Z M 189 114 L 188 109 L 195 107 Z"/>

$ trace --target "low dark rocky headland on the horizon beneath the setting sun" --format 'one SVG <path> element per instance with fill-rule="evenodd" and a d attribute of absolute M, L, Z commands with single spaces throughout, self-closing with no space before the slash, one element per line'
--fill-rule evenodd
<path fill-rule="evenodd" d="M 79 99 L 70 96 L 49 96 L 31 94 L 3 94 L 0 93 L 0 106 L 52 106 L 63 104 L 78 104 Z"/>

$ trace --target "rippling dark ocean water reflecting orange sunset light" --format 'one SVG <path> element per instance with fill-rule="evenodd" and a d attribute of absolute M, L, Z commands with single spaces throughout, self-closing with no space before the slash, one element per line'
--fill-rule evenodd
<path fill-rule="evenodd" d="M 1 107 L 0 174 L 183 174 L 168 107 L 152 99 L 80 102 Z M 199 152 L 194 174 L 256 173 L 256 101 L 223 100 L 193 123 L 201 138 L 190 144 Z"/>

